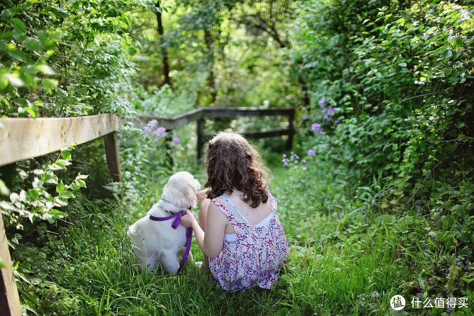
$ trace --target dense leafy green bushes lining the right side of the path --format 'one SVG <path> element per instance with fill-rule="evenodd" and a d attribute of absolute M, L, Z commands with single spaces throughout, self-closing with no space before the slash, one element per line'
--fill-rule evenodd
<path fill-rule="evenodd" d="M 424 267 L 431 293 L 461 294 L 468 289 L 461 276 L 473 273 L 473 7 L 357 6 L 300 7 L 292 57 L 312 95 L 300 150 L 344 165 L 349 194 L 371 208 L 425 227 L 397 240 L 402 257 Z M 309 132 L 315 122 L 324 135 Z"/>

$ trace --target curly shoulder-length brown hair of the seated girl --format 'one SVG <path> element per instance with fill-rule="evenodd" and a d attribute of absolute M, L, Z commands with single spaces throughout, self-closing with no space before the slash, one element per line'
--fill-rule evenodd
<path fill-rule="evenodd" d="M 205 166 L 208 198 L 243 193 L 243 201 L 252 208 L 268 201 L 268 168 L 258 151 L 242 135 L 226 129 L 208 143 Z"/>

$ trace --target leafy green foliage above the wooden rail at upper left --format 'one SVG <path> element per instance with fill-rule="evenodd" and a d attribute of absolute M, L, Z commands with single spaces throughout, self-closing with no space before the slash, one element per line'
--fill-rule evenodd
<path fill-rule="evenodd" d="M 134 106 L 137 6 L 120 0 L 7 1 L 0 6 L 0 115 L 78 116 Z"/>

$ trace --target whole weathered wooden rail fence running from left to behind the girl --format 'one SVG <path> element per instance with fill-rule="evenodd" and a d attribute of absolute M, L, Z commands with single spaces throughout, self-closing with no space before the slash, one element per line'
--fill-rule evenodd
<path fill-rule="evenodd" d="M 146 124 L 152 119 L 158 126 L 172 131 L 192 121 L 197 121 L 197 159 L 212 135 L 204 133 L 204 118 L 230 118 L 242 116 L 287 116 L 288 128 L 243 133 L 249 139 L 287 135 L 286 146 L 293 145 L 294 109 L 284 108 L 198 108 L 173 118 L 139 116 L 132 121 Z M 114 137 L 123 121 L 113 114 L 100 114 L 79 118 L 0 118 L 0 166 L 20 160 L 35 158 L 59 151 L 64 146 L 82 144 L 104 137 L 109 174 L 120 182 L 120 164 L 117 142 Z M 11 265 L 8 242 L 0 213 L 0 316 L 21 316 L 20 300 Z"/>

